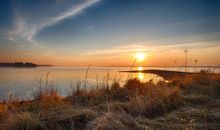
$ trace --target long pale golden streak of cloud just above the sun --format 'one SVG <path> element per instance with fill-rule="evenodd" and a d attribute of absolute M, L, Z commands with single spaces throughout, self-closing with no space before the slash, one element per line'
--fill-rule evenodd
<path fill-rule="evenodd" d="M 180 40 L 180 39 L 179 39 Z M 178 44 L 163 44 L 163 41 L 155 40 L 140 43 L 124 44 L 112 48 L 104 48 L 99 50 L 90 50 L 84 55 L 115 55 L 115 54 L 130 54 L 136 52 L 144 53 L 163 53 L 171 51 L 183 51 L 185 49 L 201 49 L 219 47 L 219 41 L 174 41 Z"/>

